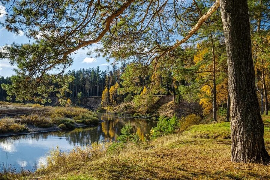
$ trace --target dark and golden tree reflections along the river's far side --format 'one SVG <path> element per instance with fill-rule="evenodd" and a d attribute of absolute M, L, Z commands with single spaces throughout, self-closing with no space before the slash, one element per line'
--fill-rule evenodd
<path fill-rule="evenodd" d="M 12 137 L 4 137 L 0 139 L 0 143 L 4 142 L 10 146 L 14 146 L 15 141 L 29 140 L 40 141 L 47 139 L 49 136 L 63 137 L 70 145 L 89 145 L 92 142 L 100 142 L 105 138 L 116 140 L 116 135 L 121 134 L 121 129 L 125 124 L 130 122 L 132 131 L 138 132 L 140 137 L 144 137 L 145 134 L 149 134 L 150 129 L 155 125 L 155 122 L 145 119 L 134 118 L 118 118 L 112 114 L 101 114 L 102 122 L 95 127 L 82 127 L 75 128 L 72 131 L 53 131 L 46 133 L 26 134 Z"/>

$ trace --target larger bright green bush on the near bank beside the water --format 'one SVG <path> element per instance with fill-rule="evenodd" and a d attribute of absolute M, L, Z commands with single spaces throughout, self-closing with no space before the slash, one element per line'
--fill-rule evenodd
<path fill-rule="evenodd" d="M 156 140 L 158 137 L 175 133 L 179 129 L 179 118 L 175 115 L 172 118 L 161 116 L 158 118 L 156 127 L 150 131 L 150 139 Z"/>

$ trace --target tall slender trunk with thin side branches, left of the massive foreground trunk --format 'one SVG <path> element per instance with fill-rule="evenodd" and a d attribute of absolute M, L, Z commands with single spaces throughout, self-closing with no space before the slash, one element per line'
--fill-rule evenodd
<path fill-rule="evenodd" d="M 210 32 L 211 37 L 211 44 L 212 44 L 212 54 L 213 54 L 213 121 L 217 122 L 217 90 L 216 90 L 216 60 L 215 60 L 215 49 L 214 49 L 214 42 L 213 36 Z"/>

